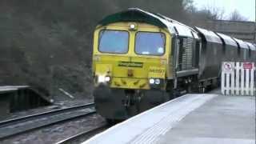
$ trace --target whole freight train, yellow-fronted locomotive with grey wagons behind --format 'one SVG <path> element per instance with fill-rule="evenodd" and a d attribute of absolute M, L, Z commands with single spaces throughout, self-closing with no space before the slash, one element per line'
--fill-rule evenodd
<path fill-rule="evenodd" d="M 106 119 L 126 119 L 178 95 L 218 84 L 223 61 L 255 62 L 255 46 L 130 8 L 94 30 L 94 102 Z"/>

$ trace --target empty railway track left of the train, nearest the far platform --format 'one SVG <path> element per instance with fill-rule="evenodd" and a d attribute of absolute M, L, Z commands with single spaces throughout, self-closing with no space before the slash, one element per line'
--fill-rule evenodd
<path fill-rule="evenodd" d="M 59 110 L 51 110 L 39 114 L 32 114 L 21 118 L 13 118 L 0 122 L 0 140 L 22 134 L 30 130 L 66 122 L 74 118 L 95 114 L 94 103 L 72 106 Z"/>

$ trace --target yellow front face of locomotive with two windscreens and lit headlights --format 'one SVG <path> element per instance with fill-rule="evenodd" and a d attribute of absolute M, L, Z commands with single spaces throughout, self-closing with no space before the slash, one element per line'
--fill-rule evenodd
<path fill-rule="evenodd" d="M 94 85 L 150 90 L 172 76 L 170 34 L 140 22 L 116 22 L 94 31 Z"/>

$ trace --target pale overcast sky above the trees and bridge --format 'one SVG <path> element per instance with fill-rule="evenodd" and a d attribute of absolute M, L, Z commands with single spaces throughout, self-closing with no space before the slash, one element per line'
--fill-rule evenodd
<path fill-rule="evenodd" d="M 250 21 L 255 19 L 255 0 L 194 0 L 194 6 L 198 7 L 199 10 L 208 6 L 224 9 L 226 18 L 234 10 L 238 10 L 242 16 Z"/>

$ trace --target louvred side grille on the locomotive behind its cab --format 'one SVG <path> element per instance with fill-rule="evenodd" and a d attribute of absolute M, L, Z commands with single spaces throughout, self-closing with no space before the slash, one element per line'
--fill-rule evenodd
<path fill-rule="evenodd" d="M 182 42 L 182 70 L 192 68 L 193 39 L 184 38 Z"/>

